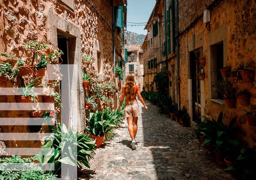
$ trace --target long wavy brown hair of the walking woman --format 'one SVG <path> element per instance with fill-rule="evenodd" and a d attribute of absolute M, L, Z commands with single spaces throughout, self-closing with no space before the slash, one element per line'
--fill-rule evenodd
<path fill-rule="evenodd" d="M 125 104 L 132 104 L 133 103 L 133 96 L 134 96 L 134 75 L 128 74 L 125 80 Z"/>

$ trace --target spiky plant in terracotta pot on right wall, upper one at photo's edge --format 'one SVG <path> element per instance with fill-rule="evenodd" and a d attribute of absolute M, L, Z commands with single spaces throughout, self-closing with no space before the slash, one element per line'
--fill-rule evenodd
<path fill-rule="evenodd" d="M 251 59 L 247 60 L 245 65 L 243 65 L 243 62 L 241 61 L 241 65 L 239 65 L 239 68 L 237 68 L 237 70 L 231 71 L 231 72 L 237 72 L 237 75 L 238 73 L 240 73 L 245 83 L 251 83 L 254 81 L 254 69 L 247 67 L 248 62 L 250 60 Z"/>

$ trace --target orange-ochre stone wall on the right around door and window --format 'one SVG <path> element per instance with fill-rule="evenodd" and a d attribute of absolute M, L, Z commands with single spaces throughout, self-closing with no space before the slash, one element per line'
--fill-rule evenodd
<path fill-rule="evenodd" d="M 213 1 L 205 1 L 206 5 L 210 5 Z M 211 66 L 211 46 L 223 42 L 224 44 L 224 67 L 231 66 L 234 70 L 242 61 L 244 64 L 251 59 L 251 65 L 255 68 L 255 19 L 256 13 L 254 1 L 219 1 L 211 6 L 210 31 L 205 28 L 203 17 L 201 16 L 206 6 L 204 0 L 195 1 L 179 1 L 179 42 L 180 42 L 180 100 L 181 106 L 185 106 L 190 110 L 188 100 L 191 97 L 190 69 L 189 69 L 189 52 L 200 49 L 200 56 L 205 56 L 206 65 L 203 67 L 205 79 L 201 80 L 201 115 L 207 115 L 209 118 L 217 119 L 218 114 L 223 110 L 224 121 L 229 123 L 232 118 L 238 116 L 236 124 L 240 128 L 239 137 L 249 143 L 252 147 L 256 144 L 255 127 L 250 127 L 242 116 L 241 109 L 255 110 L 255 82 L 244 83 L 234 81 L 233 78 L 228 79 L 237 86 L 239 90 L 247 90 L 251 94 L 250 105 L 241 106 L 236 104 L 235 109 L 228 109 L 225 104 L 218 104 L 211 99 L 213 98 L 212 79 L 213 73 Z M 186 16 L 184 16 L 186 14 Z M 199 17 L 199 18 L 197 18 Z M 196 20 L 197 19 L 197 20 Z M 196 20 L 196 21 L 195 21 Z M 193 21 L 195 23 L 188 27 Z M 186 31 L 185 31 L 186 30 Z M 188 72 L 188 73 L 187 73 Z"/>

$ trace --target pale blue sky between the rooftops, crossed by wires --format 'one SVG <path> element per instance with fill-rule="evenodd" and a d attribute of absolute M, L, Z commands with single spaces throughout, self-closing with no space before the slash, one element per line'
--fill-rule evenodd
<path fill-rule="evenodd" d="M 147 22 L 155 4 L 156 0 L 127 0 L 127 31 L 146 35 L 145 25 L 130 26 L 128 22 Z"/>

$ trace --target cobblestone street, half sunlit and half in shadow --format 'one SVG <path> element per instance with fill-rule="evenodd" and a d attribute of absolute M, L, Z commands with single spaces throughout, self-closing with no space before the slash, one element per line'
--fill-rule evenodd
<path fill-rule="evenodd" d="M 138 103 L 137 149 L 131 150 L 125 121 L 113 140 L 97 148 L 91 168 L 83 168 L 78 179 L 235 179 L 200 147 L 192 128 L 172 121 L 148 101 L 148 111 Z"/>

